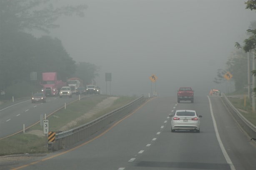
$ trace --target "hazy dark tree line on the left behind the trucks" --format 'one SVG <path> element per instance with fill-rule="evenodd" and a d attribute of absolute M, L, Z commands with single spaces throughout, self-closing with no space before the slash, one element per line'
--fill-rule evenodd
<path fill-rule="evenodd" d="M 85 5 L 54 7 L 51 2 L 0 0 L 0 90 L 24 81 L 31 84 L 30 73 L 34 71 L 37 81 L 33 85 L 39 84 L 42 72 L 57 72 L 63 81 L 80 76 L 86 82 L 97 76 L 98 68 L 87 62 L 76 64 L 60 39 L 36 38 L 28 33 L 33 30 L 49 33 L 59 27 L 54 24 L 58 17 L 73 14 L 83 17 L 86 8 Z"/>

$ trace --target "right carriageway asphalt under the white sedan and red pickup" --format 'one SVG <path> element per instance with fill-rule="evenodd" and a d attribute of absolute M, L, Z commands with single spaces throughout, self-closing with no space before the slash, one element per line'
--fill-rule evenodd
<path fill-rule="evenodd" d="M 25 109 L 25 108 L 24 108 Z M 171 133 L 169 113 L 196 110 L 201 132 Z M 219 96 L 156 97 L 74 147 L 12 165 L 16 170 L 255 170 L 256 145 Z"/>

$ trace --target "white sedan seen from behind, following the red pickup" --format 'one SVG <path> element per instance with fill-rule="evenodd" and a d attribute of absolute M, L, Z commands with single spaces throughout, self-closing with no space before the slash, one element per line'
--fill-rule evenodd
<path fill-rule="evenodd" d="M 189 130 L 200 132 L 200 118 L 194 110 L 176 110 L 171 117 L 171 132 L 176 130 Z"/>

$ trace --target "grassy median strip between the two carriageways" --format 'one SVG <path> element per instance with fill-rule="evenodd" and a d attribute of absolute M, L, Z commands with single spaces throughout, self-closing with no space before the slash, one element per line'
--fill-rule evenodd
<path fill-rule="evenodd" d="M 67 105 L 66 109 L 61 109 L 60 111 L 49 116 L 50 131 L 59 131 L 61 127 L 65 126 L 70 121 L 83 116 L 85 113 L 94 108 L 100 101 L 103 101 L 109 96 L 97 95 L 90 96 L 88 98 L 83 98 L 80 101 L 76 101 Z M 109 113 L 110 111 L 115 110 L 125 104 L 133 101 L 136 97 L 120 96 L 114 101 L 112 106 L 105 108 L 104 110 L 98 111 L 96 114 L 91 116 L 88 119 L 82 119 L 75 126 L 88 123 L 93 119 Z M 73 128 L 73 127 L 70 127 Z M 42 130 L 40 123 L 31 127 L 27 130 L 28 133 L 19 133 L 14 136 L 0 140 L 0 155 L 13 155 L 13 154 L 22 154 L 22 153 L 46 153 L 48 148 L 45 147 L 45 136 L 30 134 L 29 132 L 35 130 Z"/>

